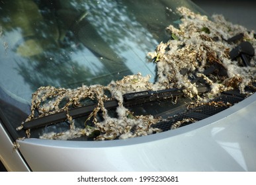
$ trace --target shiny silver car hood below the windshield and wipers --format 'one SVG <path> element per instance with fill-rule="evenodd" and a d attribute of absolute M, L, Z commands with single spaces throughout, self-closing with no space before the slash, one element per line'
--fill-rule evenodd
<path fill-rule="evenodd" d="M 19 141 L 34 171 L 256 171 L 256 94 L 171 131 L 114 141 Z"/>

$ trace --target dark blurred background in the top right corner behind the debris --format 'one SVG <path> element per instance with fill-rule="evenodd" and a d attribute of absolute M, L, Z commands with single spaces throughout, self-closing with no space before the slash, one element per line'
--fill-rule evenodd
<path fill-rule="evenodd" d="M 204 9 L 208 15 L 221 14 L 225 19 L 245 26 L 256 32 L 256 1 L 255 0 L 191 0 Z"/>

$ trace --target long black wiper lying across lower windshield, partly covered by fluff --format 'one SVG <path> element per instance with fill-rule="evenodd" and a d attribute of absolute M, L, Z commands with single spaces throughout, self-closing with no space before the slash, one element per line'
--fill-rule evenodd
<path fill-rule="evenodd" d="M 204 75 L 209 75 L 213 73 L 216 69 L 219 69 L 222 65 L 214 64 L 208 67 L 208 69 L 204 70 Z M 202 79 L 202 77 L 196 77 L 195 79 L 191 80 L 191 83 L 196 83 Z M 207 86 L 197 87 L 197 91 L 199 94 L 208 92 L 209 88 Z M 139 91 L 139 92 L 131 92 L 123 95 L 125 107 L 135 106 L 139 104 L 144 104 L 149 101 L 153 100 L 161 100 L 165 98 L 173 98 L 176 96 L 183 96 L 184 92 L 183 89 L 163 89 L 159 91 Z M 117 100 L 108 100 L 104 103 L 106 109 L 116 108 L 118 106 Z M 87 116 L 97 107 L 96 104 L 91 104 L 87 106 L 81 106 L 77 108 L 71 108 L 68 110 L 69 116 L 72 118 L 79 118 L 81 116 Z M 54 114 L 50 114 L 47 116 L 42 116 L 39 118 L 35 118 L 34 120 L 30 120 L 28 122 L 24 122 L 22 125 L 23 129 L 33 129 L 39 128 L 43 126 L 48 126 L 52 124 L 57 124 L 59 122 L 65 122 L 67 120 L 67 112 L 57 112 Z"/>

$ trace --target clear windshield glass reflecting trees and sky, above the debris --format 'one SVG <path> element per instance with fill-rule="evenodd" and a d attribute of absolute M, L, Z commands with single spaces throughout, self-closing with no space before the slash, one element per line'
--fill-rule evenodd
<path fill-rule="evenodd" d="M 30 114 L 42 86 L 107 85 L 141 73 L 155 79 L 147 53 L 169 40 L 177 7 L 190 1 L 0 1 L 1 120 L 13 127 Z M 22 132 L 18 134 L 22 135 Z"/>

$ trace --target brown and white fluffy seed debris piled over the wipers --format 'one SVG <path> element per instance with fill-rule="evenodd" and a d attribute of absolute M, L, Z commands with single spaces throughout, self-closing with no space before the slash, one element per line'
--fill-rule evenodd
<path fill-rule="evenodd" d="M 221 15 L 213 15 L 210 20 L 185 7 L 180 7 L 177 11 L 182 16 L 179 28 L 173 25 L 168 26 L 166 30 L 170 34 L 169 42 L 161 42 L 155 52 L 148 54 L 157 65 L 155 83 L 149 82 L 149 76 L 142 77 L 137 74 L 126 76 L 120 81 L 112 81 L 107 86 L 92 85 L 77 89 L 40 87 L 32 95 L 31 114 L 26 122 L 37 117 L 65 111 L 70 129 L 60 133 L 44 133 L 40 138 L 73 139 L 82 135 L 91 135 L 93 131 L 98 130 L 101 134 L 95 138 L 96 140 L 124 139 L 161 131 L 151 127 L 161 118 L 154 118 L 151 115 L 134 116 L 123 106 L 122 95 L 125 93 L 178 88 L 183 89 L 185 96 L 196 97 L 201 102 L 207 102 L 209 98 L 214 98 L 220 92 L 234 88 L 246 94 L 245 87 L 256 81 L 256 58 L 254 56 L 251 59 L 252 65 L 249 67 L 239 66 L 239 61 L 232 61 L 229 55 L 230 50 L 235 48 L 237 43 L 228 43 L 227 40 L 242 33 L 243 40 L 249 41 L 253 48 L 256 48 L 254 32 L 248 32 L 243 26 L 227 22 Z M 220 65 L 226 73 L 220 75 L 217 71 L 213 75 L 204 75 L 204 71 L 214 64 Z M 196 77 L 202 77 L 210 86 L 209 92 L 198 94 L 196 83 L 191 81 L 191 77 L 195 74 Z M 104 107 L 104 102 L 112 99 L 118 100 L 117 118 L 111 117 Z M 94 126 L 88 126 L 85 122 L 84 128 L 75 128 L 75 120 L 69 116 L 68 110 L 73 106 L 81 106 L 86 100 L 97 102 L 97 107 L 87 119 L 92 119 Z M 97 118 L 99 112 L 102 112 L 103 120 Z M 194 120 L 182 122 L 189 121 Z M 182 122 L 174 124 L 172 129 L 179 128 Z"/>

